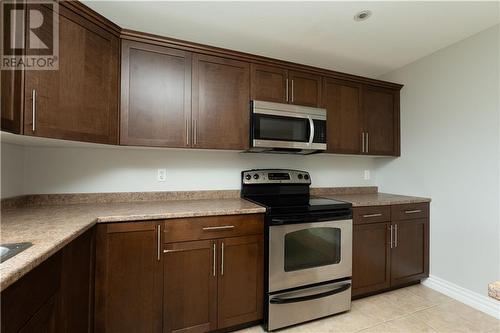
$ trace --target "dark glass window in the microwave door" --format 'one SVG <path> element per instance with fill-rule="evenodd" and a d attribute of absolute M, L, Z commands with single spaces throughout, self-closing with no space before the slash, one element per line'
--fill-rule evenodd
<path fill-rule="evenodd" d="M 254 139 L 309 142 L 310 125 L 307 118 L 254 114 Z"/>

